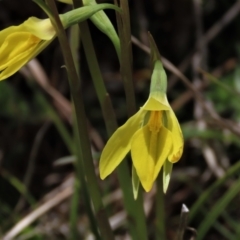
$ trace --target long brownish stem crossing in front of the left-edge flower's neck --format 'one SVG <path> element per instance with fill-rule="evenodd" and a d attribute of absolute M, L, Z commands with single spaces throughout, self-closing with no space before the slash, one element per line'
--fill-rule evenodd
<path fill-rule="evenodd" d="M 54 19 L 51 19 L 51 21 L 57 32 L 57 36 L 61 45 L 66 68 L 68 71 L 70 90 L 72 93 L 74 108 L 76 111 L 77 129 L 78 129 L 78 136 L 80 140 L 79 147 L 81 149 L 82 159 L 84 159 L 84 171 L 87 177 L 88 189 L 89 189 L 89 193 L 91 195 L 93 206 L 95 209 L 98 226 L 104 240 L 105 239 L 113 240 L 114 236 L 110 228 L 110 224 L 108 222 L 106 212 L 103 207 L 102 197 L 101 197 L 100 189 L 99 189 L 97 178 L 94 171 L 94 164 L 93 164 L 93 159 L 92 159 L 92 154 L 90 149 L 90 142 L 88 138 L 86 114 L 84 110 L 82 93 L 80 89 L 80 82 L 79 82 L 77 71 L 75 69 L 74 61 L 71 55 L 71 49 L 69 47 L 67 37 L 64 32 L 64 28 L 59 19 L 59 15 L 58 15 L 54 0 L 46 0 L 46 2 L 54 15 Z"/>

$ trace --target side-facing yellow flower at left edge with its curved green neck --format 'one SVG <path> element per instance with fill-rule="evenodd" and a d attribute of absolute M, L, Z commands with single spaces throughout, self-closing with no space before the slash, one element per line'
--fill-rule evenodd
<path fill-rule="evenodd" d="M 118 9 L 112 4 L 96 4 L 61 14 L 60 18 L 64 28 L 67 28 L 105 8 Z M 50 19 L 36 17 L 30 17 L 19 26 L 11 26 L 0 31 L 0 80 L 17 72 L 46 48 L 55 37 L 56 32 Z"/>

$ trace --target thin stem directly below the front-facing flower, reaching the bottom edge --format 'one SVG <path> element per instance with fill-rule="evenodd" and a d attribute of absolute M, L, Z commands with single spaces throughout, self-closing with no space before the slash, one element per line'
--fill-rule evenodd
<path fill-rule="evenodd" d="M 163 170 L 157 178 L 157 195 L 156 195 L 156 240 L 165 240 L 165 204 L 164 204 L 164 193 L 163 193 Z"/>

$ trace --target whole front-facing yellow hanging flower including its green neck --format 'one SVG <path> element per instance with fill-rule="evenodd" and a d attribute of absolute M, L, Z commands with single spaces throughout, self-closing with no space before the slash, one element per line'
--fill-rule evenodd
<path fill-rule="evenodd" d="M 166 192 L 171 164 L 182 156 L 183 136 L 165 93 L 166 73 L 159 57 L 156 56 L 155 54 L 149 98 L 107 142 L 100 158 L 100 177 L 106 178 L 127 153 L 131 152 L 133 175 L 136 172 L 147 192 L 151 190 L 164 165 L 166 171 L 164 192 Z"/>

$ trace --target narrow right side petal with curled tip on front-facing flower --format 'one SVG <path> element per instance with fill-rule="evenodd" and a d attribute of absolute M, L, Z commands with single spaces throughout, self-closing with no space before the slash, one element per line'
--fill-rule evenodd
<path fill-rule="evenodd" d="M 181 128 L 179 126 L 178 120 L 174 112 L 171 110 L 167 111 L 166 114 L 167 114 L 167 128 L 172 132 L 173 136 L 173 147 L 168 157 L 168 160 L 172 163 L 175 163 L 182 156 L 184 141 Z"/>

